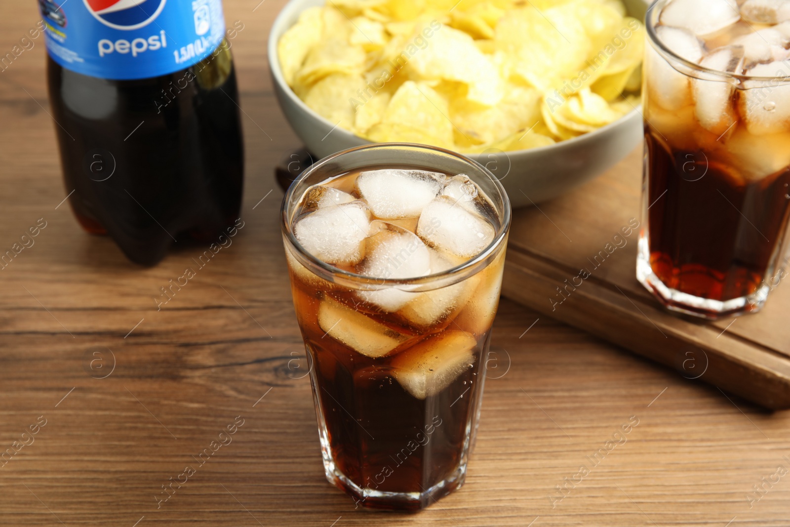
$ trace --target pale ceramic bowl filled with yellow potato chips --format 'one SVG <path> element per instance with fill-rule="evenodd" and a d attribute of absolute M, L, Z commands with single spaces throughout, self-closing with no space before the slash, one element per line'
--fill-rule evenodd
<path fill-rule="evenodd" d="M 461 152 L 514 206 L 642 137 L 644 0 L 291 0 L 269 36 L 280 107 L 318 157 L 371 142 Z"/>

